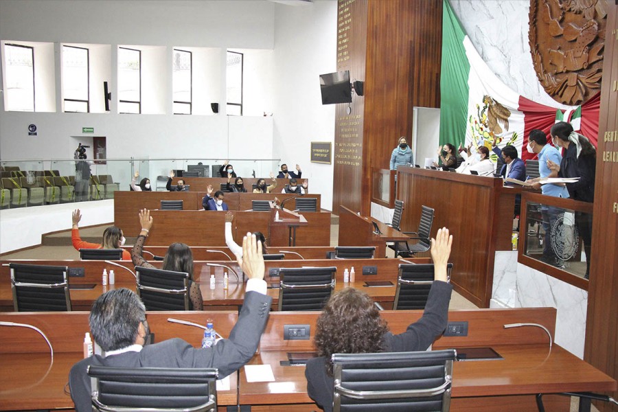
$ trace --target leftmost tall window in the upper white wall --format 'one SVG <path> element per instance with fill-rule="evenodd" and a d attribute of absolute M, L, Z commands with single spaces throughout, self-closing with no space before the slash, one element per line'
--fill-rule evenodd
<path fill-rule="evenodd" d="M 34 47 L 5 45 L 6 110 L 34 111 Z"/>

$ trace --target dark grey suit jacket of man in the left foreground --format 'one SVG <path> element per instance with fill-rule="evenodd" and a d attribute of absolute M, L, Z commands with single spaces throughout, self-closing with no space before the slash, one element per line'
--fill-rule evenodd
<path fill-rule="evenodd" d="M 272 298 L 258 292 L 244 296 L 244 304 L 238 322 L 229 334 L 229 339 L 218 341 L 213 347 L 195 348 L 182 339 L 169 339 L 154 345 L 144 346 L 141 352 L 125 352 L 102 357 L 93 355 L 79 361 L 69 373 L 71 398 L 77 412 L 90 412 L 91 385 L 86 372 L 89 365 L 113 367 L 216 367 L 219 378 L 231 374 L 249 362 L 258 349 L 260 336 L 268 320 Z M 216 325 L 215 325 L 216 327 Z M 156 331 L 155 331 L 156 332 Z M 195 342 L 199 345 L 199 342 Z"/>

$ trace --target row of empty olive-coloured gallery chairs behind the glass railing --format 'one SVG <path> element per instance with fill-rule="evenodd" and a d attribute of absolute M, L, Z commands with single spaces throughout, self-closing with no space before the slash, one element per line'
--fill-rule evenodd
<path fill-rule="evenodd" d="M 114 198 L 118 183 L 109 174 L 92 175 L 82 197 L 76 199 L 75 176 L 27 176 L 3 177 L 0 179 L 0 208 L 51 205 L 84 200 Z"/>

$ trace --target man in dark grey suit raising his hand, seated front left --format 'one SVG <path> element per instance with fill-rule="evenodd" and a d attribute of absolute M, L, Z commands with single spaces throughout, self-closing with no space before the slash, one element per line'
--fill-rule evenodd
<path fill-rule="evenodd" d="M 213 347 L 196 349 L 177 338 L 144 346 L 148 322 L 139 297 L 125 288 L 101 295 L 90 312 L 90 330 L 106 356 L 90 356 L 71 368 L 69 387 L 76 411 L 92 410 L 89 365 L 214 367 L 219 371 L 219 378 L 224 378 L 247 363 L 258 348 L 272 302 L 266 295 L 262 244 L 255 235 L 247 233 L 242 240 L 242 258 L 238 263 L 249 276 L 244 304 L 229 339 L 222 339 Z"/>

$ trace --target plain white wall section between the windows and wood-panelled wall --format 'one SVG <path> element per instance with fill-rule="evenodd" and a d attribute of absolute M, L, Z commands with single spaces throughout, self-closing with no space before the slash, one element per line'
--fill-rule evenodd
<path fill-rule="evenodd" d="M 310 163 L 310 141 L 334 141 L 334 105 L 321 104 L 319 75 L 336 71 L 336 19 L 336 1 L 275 8 L 275 157 L 299 163 L 330 210 L 333 165 Z"/>

